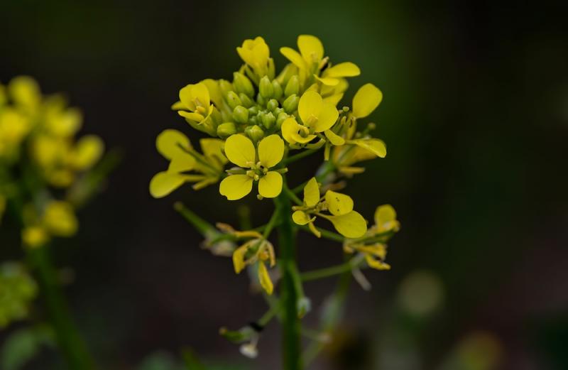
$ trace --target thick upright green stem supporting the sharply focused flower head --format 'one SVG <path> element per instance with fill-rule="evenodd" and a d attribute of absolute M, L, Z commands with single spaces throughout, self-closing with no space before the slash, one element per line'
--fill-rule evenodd
<path fill-rule="evenodd" d="M 277 212 L 280 214 L 278 226 L 278 240 L 280 246 L 280 268 L 282 280 L 280 281 L 280 301 L 282 305 L 283 326 L 283 369 L 302 369 L 300 352 L 301 325 L 297 315 L 297 290 L 295 287 L 296 250 L 295 235 L 292 228 L 290 198 L 286 192 L 281 192 L 275 199 Z"/>

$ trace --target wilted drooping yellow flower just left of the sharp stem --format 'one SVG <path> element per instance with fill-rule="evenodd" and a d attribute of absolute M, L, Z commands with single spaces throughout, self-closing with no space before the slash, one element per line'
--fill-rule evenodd
<path fill-rule="evenodd" d="M 245 244 L 235 249 L 233 252 L 233 266 L 235 273 L 240 273 L 245 266 L 257 263 L 258 282 L 266 293 L 272 294 L 274 285 L 265 263 L 268 261 L 271 267 L 275 265 L 274 247 L 270 241 L 263 239 L 260 234 L 258 236 L 258 238 L 246 241 Z"/>

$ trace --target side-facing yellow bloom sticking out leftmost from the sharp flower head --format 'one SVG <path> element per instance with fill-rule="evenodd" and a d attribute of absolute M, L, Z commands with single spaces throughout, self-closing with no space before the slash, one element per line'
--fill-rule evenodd
<path fill-rule="evenodd" d="M 194 190 L 217 183 L 227 162 L 223 155 L 223 141 L 217 138 L 202 138 L 203 154 L 197 153 L 190 139 L 177 130 L 165 130 L 156 138 L 158 152 L 168 160 L 168 170 L 154 175 L 150 193 L 155 198 L 165 197 L 184 183 L 195 183 Z M 195 173 L 188 174 L 193 171 Z"/>

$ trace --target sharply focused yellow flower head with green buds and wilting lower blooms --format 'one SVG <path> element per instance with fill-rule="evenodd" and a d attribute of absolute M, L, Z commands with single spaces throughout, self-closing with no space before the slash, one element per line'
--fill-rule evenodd
<path fill-rule="evenodd" d="M 280 276 L 269 273 L 268 268 L 278 265 L 282 275 L 297 275 L 289 263 L 285 267 L 277 263 L 269 241 L 272 229 L 288 219 L 292 229 L 340 241 L 346 256 L 356 254 L 354 262 L 347 265 L 354 271 L 359 271 L 363 261 L 371 268 L 388 269 L 386 241 L 399 228 L 389 205 L 378 207 L 375 225 L 367 227 L 365 217 L 354 210 L 351 197 L 338 191 L 344 186 L 342 178 L 364 171 L 358 163 L 386 156 L 385 143 L 370 134 L 376 125 L 361 123 L 381 103 L 381 90 L 363 85 L 351 104 L 344 106 L 340 102 L 349 87 L 348 79 L 361 74 L 359 67 L 352 62 L 332 63 L 315 36 L 299 36 L 297 48 L 280 48 L 288 64 L 277 73 L 263 38 L 245 40 L 236 48 L 244 64 L 232 80 L 206 79 L 182 87 L 172 109 L 209 137 L 200 139 L 201 151 L 197 151 L 180 131 L 163 131 L 156 146 L 169 165 L 150 183 L 153 197 L 169 195 L 185 183 L 193 183 L 194 190 L 219 183 L 219 193 L 227 200 L 240 200 L 251 192 L 258 200 L 278 198 L 273 217 L 261 227 L 245 231 L 226 224 L 217 224 L 219 229 L 207 226 L 196 214 L 176 205 L 204 234 L 207 249 L 218 256 L 232 256 L 236 273 L 249 268 L 253 282 L 268 295 L 273 294 Z M 294 163 L 319 151 L 323 160 L 315 176 L 288 187 L 288 171 Z M 300 200 L 297 194 L 302 191 Z M 295 205 L 282 212 L 280 199 Z M 331 222 L 337 233 L 317 227 L 318 219 Z M 299 278 L 295 290 L 297 312 L 302 317 L 310 300 L 303 295 Z M 247 342 L 243 352 L 256 355 L 255 333 L 254 327 L 222 331 L 235 342 Z"/>

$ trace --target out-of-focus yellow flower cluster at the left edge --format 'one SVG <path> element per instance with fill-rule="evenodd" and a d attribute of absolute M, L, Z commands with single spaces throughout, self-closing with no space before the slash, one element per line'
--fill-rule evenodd
<path fill-rule="evenodd" d="M 104 152 L 98 136 L 75 140 L 81 125 L 78 109 L 60 95 L 44 97 L 31 77 L 0 85 L 0 218 L 11 203 L 26 246 L 77 231 L 71 198 L 87 192 L 85 174 Z"/>

